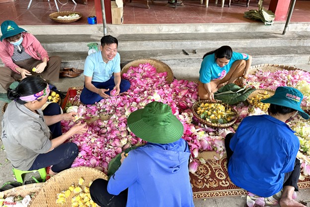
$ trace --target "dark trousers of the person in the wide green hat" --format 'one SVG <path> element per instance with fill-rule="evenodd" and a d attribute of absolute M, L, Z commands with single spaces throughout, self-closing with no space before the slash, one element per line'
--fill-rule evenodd
<path fill-rule="evenodd" d="M 114 196 L 107 191 L 108 181 L 96 179 L 89 187 L 91 199 L 100 207 L 126 207 L 128 189 Z"/>

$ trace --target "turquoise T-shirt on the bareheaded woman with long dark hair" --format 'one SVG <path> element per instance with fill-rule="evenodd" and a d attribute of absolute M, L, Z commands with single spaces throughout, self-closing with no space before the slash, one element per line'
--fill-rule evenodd
<path fill-rule="evenodd" d="M 202 63 L 199 70 L 199 80 L 202 83 L 209 83 L 214 79 L 223 79 L 229 70 L 232 68 L 232 65 L 235 61 L 238 60 L 248 60 L 249 56 L 244 53 L 233 52 L 230 62 L 221 68 L 215 61 L 215 54 L 207 55 Z"/>

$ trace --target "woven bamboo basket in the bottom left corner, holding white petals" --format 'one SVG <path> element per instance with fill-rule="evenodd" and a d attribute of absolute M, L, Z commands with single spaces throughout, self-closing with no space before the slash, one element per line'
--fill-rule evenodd
<path fill-rule="evenodd" d="M 42 186 L 44 183 L 33 183 L 33 184 L 28 184 L 28 185 L 23 185 L 19 186 L 16 188 L 12 188 L 6 191 L 3 191 L 4 193 L 4 198 L 10 197 L 10 196 L 21 196 L 25 197 L 27 195 L 31 196 L 35 194 Z"/>

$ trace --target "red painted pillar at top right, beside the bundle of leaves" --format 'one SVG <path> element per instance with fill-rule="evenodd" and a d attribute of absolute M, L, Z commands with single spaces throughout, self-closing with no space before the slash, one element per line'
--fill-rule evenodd
<path fill-rule="evenodd" d="M 271 0 L 269 4 L 269 9 L 275 13 L 275 21 L 285 21 L 291 0 Z"/>

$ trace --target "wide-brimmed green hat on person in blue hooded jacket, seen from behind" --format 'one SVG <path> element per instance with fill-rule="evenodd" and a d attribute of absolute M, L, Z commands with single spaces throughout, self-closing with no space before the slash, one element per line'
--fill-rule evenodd
<path fill-rule="evenodd" d="M 170 106 L 157 101 L 132 112 L 127 125 L 137 137 L 160 144 L 178 140 L 184 130 L 182 123 L 172 114 Z"/>

